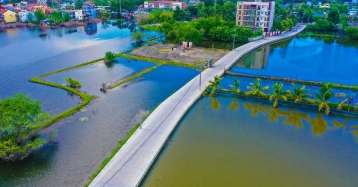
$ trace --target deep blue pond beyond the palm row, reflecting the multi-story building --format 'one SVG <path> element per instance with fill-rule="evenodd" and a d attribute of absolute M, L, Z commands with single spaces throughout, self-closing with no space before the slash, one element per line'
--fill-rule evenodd
<path fill-rule="evenodd" d="M 356 85 L 357 57 L 358 44 L 354 41 L 294 38 L 245 55 L 231 71 Z"/>

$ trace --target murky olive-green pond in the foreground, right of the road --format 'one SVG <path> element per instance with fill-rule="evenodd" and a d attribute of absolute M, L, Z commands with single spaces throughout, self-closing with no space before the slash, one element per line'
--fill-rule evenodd
<path fill-rule="evenodd" d="M 358 119 L 204 97 L 141 186 L 357 186 Z"/>

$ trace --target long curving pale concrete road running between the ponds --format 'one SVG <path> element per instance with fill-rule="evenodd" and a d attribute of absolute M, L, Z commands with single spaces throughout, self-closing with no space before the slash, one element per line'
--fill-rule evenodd
<path fill-rule="evenodd" d="M 177 90 L 153 111 L 141 128 L 137 128 L 89 186 L 138 186 L 178 122 L 202 96 L 208 81 L 216 75 L 222 76 L 243 55 L 261 46 L 293 38 L 306 25 L 297 27 L 296 32 L 250 42 L 234 49 Z"/>

